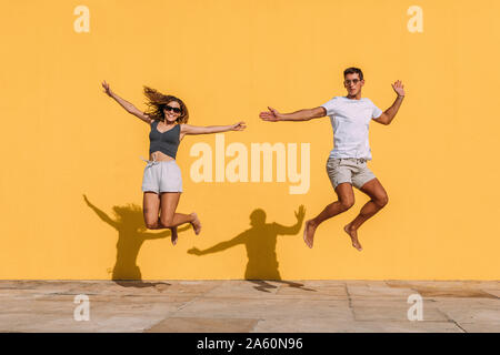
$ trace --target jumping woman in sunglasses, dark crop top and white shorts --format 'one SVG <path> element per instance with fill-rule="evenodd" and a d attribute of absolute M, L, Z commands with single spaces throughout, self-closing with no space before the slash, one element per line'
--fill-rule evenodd
<path fill-rule="evenodd" d="M 231 125 L 189 125 L 187 124 L 188 108 L 182 100 L 176 97 L 164 95 L 154 89 L 144 87 L 148 111 L 142 112 L 112 92 L 106 81 L 102 82 L 102 88 L 104 88 L 104 93 L 114 99 L 127 112 L 151 126 L 149 160 L 144 160 L 148 164 L 142 178 L 142 192 L 144 193 L 142 209 L 146 226 L 150 230 L 170 229 L 173 245 L 178 239 L 177 227 L 181 224 L 191 223 L 198 235 L 201 230 L 198 215 L 194 212 L 191 214 L 176 212 L 182 192 L 181 172 L 176 163 L 179 144 L 186 134 L 242 131 L 246 129 L 244 122 Z"/>

